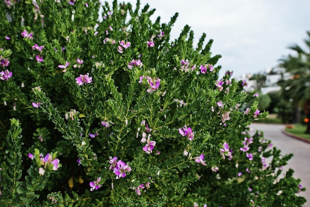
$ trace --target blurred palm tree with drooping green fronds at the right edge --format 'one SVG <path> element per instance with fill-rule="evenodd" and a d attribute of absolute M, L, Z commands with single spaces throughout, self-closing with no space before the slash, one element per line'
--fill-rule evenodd
<path fill-rule="evenodd" d="M 290 100 L 298 107 L 303 107 L 305 115 L 310 119 L 310 32 L 308 39 L 304 40 L 307 51 L 298 45 L 289 47 L 297 55 L 289 55 L 280 60 L 279 67 L 286 69 L 289 78 L 283 78 L 278 82 L 281 86 L 283 99 Z M 307 123 L 307 131 L 310 133 L 310 122 Z"/>

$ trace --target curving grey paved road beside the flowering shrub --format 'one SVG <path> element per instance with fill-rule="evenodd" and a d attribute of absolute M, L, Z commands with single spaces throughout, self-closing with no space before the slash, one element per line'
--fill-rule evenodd
<path fill-rule="evenodd" d="M 310 143 L 284 135 L 281 132 L 284 129 L 284 125 L 252 124 L 251 128 L 254 131 L 263 131 L 264 137 L 271 140 L 274 146 L 281 149 L 283 155 L 294 154 L 288 161 L 288 165 L 283 169 L 292 168 L 295 171 L 293 176 L 302 180 L 301 185 L 307 188 L 307 190 L 299 195 L 307 199 L 304 207 L 310 207 Z"/>

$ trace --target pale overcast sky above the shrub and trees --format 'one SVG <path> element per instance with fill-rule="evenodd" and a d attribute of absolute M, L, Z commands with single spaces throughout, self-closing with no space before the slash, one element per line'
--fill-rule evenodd
<path fill-rule="evenodd" d="M 112 0 L 108 0 L 111 2 Z M 118 1 L 122 2 L 122 1 Z M 134 5 L 136 0 L 124 0 Z M 310 31 L 310 0 L 140 0 L 155 8 L 153 20 L 169 22 L 175 12 L 179 17 L 171 31 L 177 38 L 188 24 L 197 44 L 202 34 L 206 43 L 213 39 L 211 52 L 220 54 L 220 75 L 233 70 L 234 77 L 258 73 L 275 67 L 278 60 L 293 54 L 287 49 L 298 44 Z"/>

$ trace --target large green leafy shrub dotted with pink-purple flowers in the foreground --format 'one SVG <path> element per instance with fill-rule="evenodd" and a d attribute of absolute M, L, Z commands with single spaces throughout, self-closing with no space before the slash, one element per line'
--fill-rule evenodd
<path fill-rule="evenodd" d="M 206 35 L 92 0 L 0 4 L 1 206 L 296 206 L 292 155 L 249 124 Z M 10 120 L 10 121 L 9 121 Z M 23 130 L 22 130 L 23 129 Z"/>

